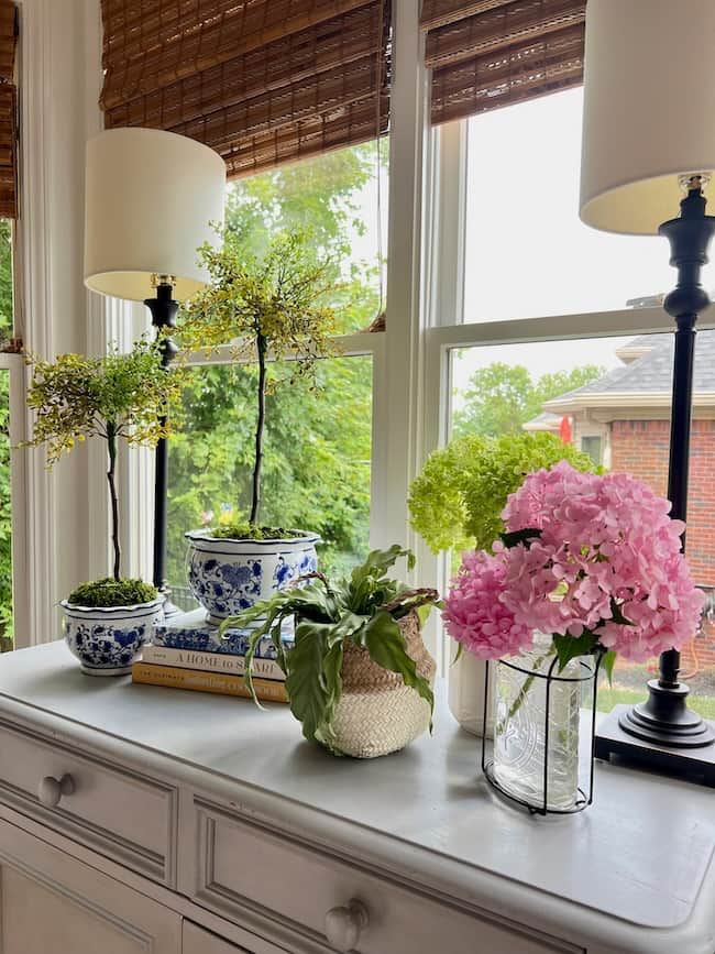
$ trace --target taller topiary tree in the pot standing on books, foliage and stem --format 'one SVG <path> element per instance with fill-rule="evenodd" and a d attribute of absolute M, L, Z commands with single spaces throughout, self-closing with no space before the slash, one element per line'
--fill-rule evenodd
<path fill-rule="evenodd" d="M 261 471 L 266 421 L 266 393 L 280 384 L 307 380 L 315 386 L 316 362 L 334 354 L 330 336 L 336 316 L 327 304 L 333 285 L 331 261 L 320 254 L 302 231 L 279 232 L 261 256 L 251 254 L 239 234 L 227 230 L 218 251 L 201 250 L 211 282 L 183 309 L 177 340 L 186 351 L 234 343 L 234 355 L 254 357 L 257 363 L 253 476 L 249 526 L 241 536 L 260 536 Z M 268 377 L 268 360 L 290 357 L 290 372 Z M 235 536 L 237 528 L 222 528 Z"/>

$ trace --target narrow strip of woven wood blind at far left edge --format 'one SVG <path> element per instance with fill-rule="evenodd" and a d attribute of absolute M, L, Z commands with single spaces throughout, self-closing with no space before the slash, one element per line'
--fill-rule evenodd
<path fill-rule="evenodd" d="M 0 218 L 18 217 L 18 10 L 0 0 Z"/>

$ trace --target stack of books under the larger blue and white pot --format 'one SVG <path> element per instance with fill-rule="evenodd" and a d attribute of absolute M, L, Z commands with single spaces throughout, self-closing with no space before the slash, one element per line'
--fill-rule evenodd
<path fill-rule="evenodd" d="M 228 629 L 226 638 L 206 622 L 206 610 L 182 613 L 154 630 L 152 645 L 132 666 L 132 682 L 251 697 L 245 684 L 245 654 L 250 629 Z M 286 648 L 293 633 L 284 630 Z M 276 661 L 276 648 L 268 637 L 261 639 L 253 660 L 256 697 L 267 702 L 288 702 L 285 675 Z"/>

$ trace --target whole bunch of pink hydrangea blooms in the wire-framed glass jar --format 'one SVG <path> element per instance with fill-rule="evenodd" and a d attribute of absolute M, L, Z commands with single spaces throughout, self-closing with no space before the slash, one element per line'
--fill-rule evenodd
<path fill-rule="evenodd" d="M 507 531 L 540 533 L 509 549 L 496 544 L 494 557 L 464 556 L 448 630 L 485 658 L 528 645 L 532 630 L 578 638 L 587 629 L 639 661 L 680 648 L 697 630 L 704 594 L 681 552 L 684 525 L 669 511 L 628 474 L 584 474 L 565 461 L 529 474 L 502 516 Z"/>

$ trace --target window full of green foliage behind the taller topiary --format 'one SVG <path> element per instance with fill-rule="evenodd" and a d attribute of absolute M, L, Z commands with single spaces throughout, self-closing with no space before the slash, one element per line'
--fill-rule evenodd
<path fill-rule="evenodd" d="M 239 180 L 227 195 L 227 223 L 254 253 L 276 231 L 300 228 L 334 262 L 344 357 L 320 362 L 317 393 L 298 383 L 268 395 L 261 513 L 266 524 L 319 533 L 329 573 L 350 569 L 369 547 L 372 351 L 381 336 L 355 332 L 383 308 L 386 191 L 385 146 L 371 143 Z M 187 607 L 184 533 L 245 518 L 250 504 L 255 369 L 229 363 L 229 353 L 216 361 L 199 358 L 191 369 L 185 426 L 169 451 L 168 580 Z M 289 369 L 272 365 L 270 375 L 285 379 Z"/>

